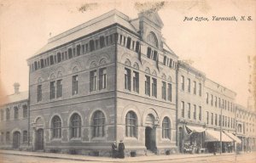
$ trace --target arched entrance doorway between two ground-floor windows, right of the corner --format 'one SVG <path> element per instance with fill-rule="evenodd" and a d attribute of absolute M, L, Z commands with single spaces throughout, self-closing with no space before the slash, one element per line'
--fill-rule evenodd
<path fill-rule="evenodd" d="M 145 146 L 148 150 L 156 149 L 154 115 L 147 115 L 145 127 Z"/>

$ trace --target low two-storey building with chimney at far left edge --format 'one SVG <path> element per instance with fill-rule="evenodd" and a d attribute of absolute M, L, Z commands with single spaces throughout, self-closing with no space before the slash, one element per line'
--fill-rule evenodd
<path fill-rule="evenodd" d="M 29 149 L 28 93 L 19 92 L 19 83 L 14 87 L 14 94 L 0 100 L 0 148 Z"/>

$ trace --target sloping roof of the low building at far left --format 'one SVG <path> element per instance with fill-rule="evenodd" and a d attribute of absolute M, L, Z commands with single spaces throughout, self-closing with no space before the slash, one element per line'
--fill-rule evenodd
<path fill-rule="evenodd" d="M 28 100 L 28 91 L 10 94 L 6 97 L 1 98 L 0 105 L 16 103 L 16 102 L 23 101 L 23 100 Z"/>

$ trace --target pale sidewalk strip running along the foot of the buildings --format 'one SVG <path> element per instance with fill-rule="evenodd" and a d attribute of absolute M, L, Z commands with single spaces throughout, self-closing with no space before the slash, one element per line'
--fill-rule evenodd
<path fill-rule="evenodd" d="M 148 161 L 157 161 L 157 160 L 177 160 L 184 158 L 195 158 L 195 157 L 210 157 L 214 156 L 212 154 L 195 154 L 195 155 L 152 155 L 152 156 L 137 156 L 137 157 L 126 157 L 125 159 L 112 159 L 110 157 L 96 157 L 88 155 L 67 155 L 67 154 L 53 154 L 53 153 L 44 153 L 44 152 L 26 152 L 26 151 L 16 151 L 16 150 L 0 150 L 0 154 L 3 155 L 26 155 L 34 157 L 44 157 L 51 159 L 64 159 L 64 160 L 81 160 L 81 161 L 99 161 L 99 162 L 148 162 Z M 235 153 L 227 153 L 222 155 L 215 156 L 224 156 L 224 155 L 235 155 Z"/>

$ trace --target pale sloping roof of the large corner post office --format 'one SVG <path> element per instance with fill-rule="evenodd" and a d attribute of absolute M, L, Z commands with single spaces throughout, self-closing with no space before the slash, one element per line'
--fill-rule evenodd
<path fill-rule="evenodd" d="M 131 25 L 129 17 L 125 14 L 122 14 L 118 10 L 113 9 L 106 14 L 102 14 L 101 16 L 93 20 L 85 22 L 82 25 L 78 25 L 73 29 L 65 31 L 55 37 L 49 38 L 48 43 L 43 48 L 41 48 L 37 53 L 35 53 L 33 57 L 38 56 L 41 53 L 48 52 L 49 50 L 57 48 L 67 42 L 72 42 L 73 40 L 76 40 L 79 37 L 84 37 L 94 31 L 101 30 L 106 26 L 113 25 L 116 23 L 123 25 L 125 28 L 137 33 L 135 27 Z"/>

